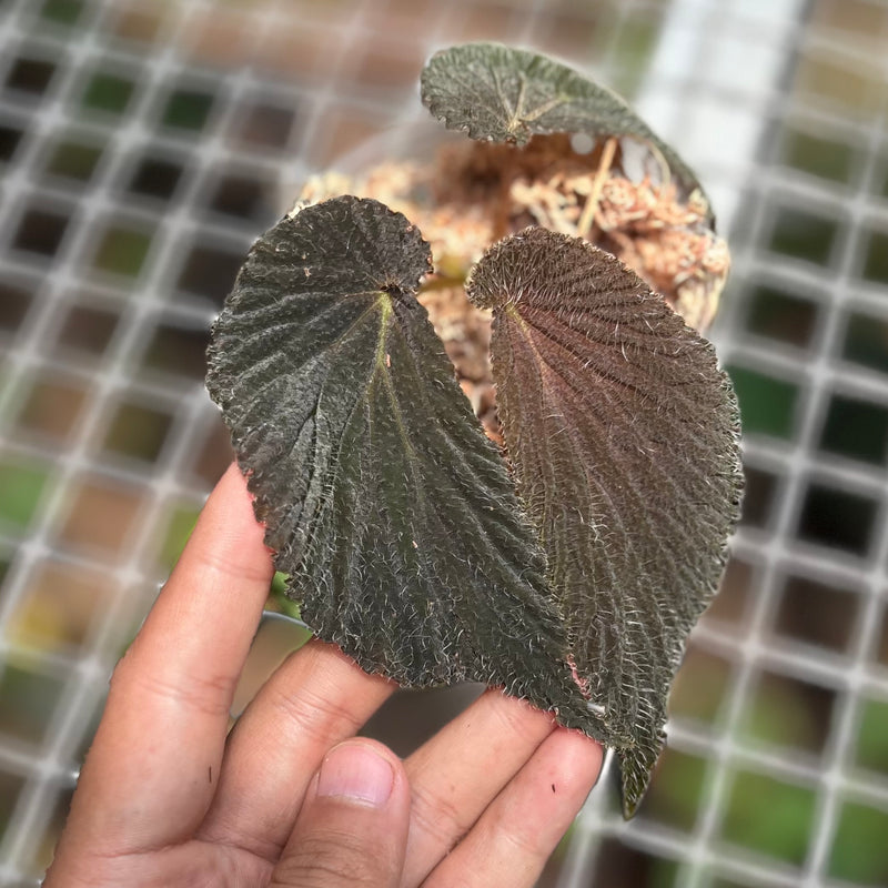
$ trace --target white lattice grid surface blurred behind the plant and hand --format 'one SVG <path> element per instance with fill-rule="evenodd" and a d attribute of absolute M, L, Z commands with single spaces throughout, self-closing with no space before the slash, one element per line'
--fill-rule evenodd
<path fill-rule="evenodd" d="M 79 1 L 56 0 L 54 6 L 75 7 Z M 218 415 L 198 381 L 147 371 L 143 359 L 148 332 L 158 323 L 202 326 L 215 310 L 215 293 L 179 297 L 183 292 L 183 245 L 198 238 L 224 253 L 242 254 L 264 226 L 261 222 L 269 224 L 274 219 L 270 209 L 241 220 L 208 212 L 208 195 L 218 170 L 235 164 L 251 172 L 260 170 L 272 185 L 297 182 L 323 162 L 325 148 L 332 150 L 335 144 L 331 135 L 334 110 L 344 109 L 367 131 L 379 129 L 374 120 L 394 123 L 414 115 L 405 105 L 413 98 L 412 82 L 380 88 L 372 82 L 355 82 L 355 71 L 361 69 L 369 46 L 384 43 L 395 62 L 402 57 L 422 59 L 437 46 L 471 38 L 498 38 L 554 50 L 605 82 L 637 92 L 645 114 L 697 167 L 722 219 L 729 220 L 736 233 L 734 300 L 727 302 L 718 336 L 725 359 L 764 367 L 797 384 L 799 392 L 791 434 L 783 438 L 751 435 L 747 441 L 749 460 L 780 481 L 766 527 L 744 527 L 736 539 L 738 557 L 754 571 L 755 595 L 750 596 L 745 620 L 740 625 L 708 620 L 695 637 L 695 647 L 730 664 L 731 680 L 719 717 L 712 725 L 676 717 L 670 725 L 673 748 L 707 763 L 693 826 L 668 826 L 640 817 L 626 827 L 617 819 L 607 793 L 594 794 L 568 845 L 566 866 L 555 878 L 562 885 L 592 885 L 595 874 L 602 871 L 603 859 L 614 855 L 616 846 L 608 844 L 608 838 L 616 836 L 625 848 L 652 859 L 676 861 L 674 879 L 658 877 L 658 885 L 716 885 L 719 877 L 737 885 L 827 884 L 833 837 L 845 798 L 888 810 L 885 775 L 861 771 L 855 760 L 864 700 L 888 697 L 888 674 L 884 663 L 878 665 L 877 650 L 888 554 L 880 474 L 884 465 L 866 466 L 826 455 L 817 443 L 835 389 L 874 404 L 886 403 L 882 377 L 877 372 L 862 371 L 840 359 L 849 307 L 888 322 L 881 304 L 885 286 L 860 281 L 866 232 L 879 225 L 888 228 L 886 201 L 875 196 L 885 174 L 886 109 L 882 95 L 876 99 L 878 113 L 871 120 L 857 119 L 854 109 L 799 94 L 794 72 L 800 59 L 819 54 L 835 62 L 837 70 L 854 73 L 862 70 L 871 74 L 874 67 L 882 65 L 884 79 L 881 48 L 888 40 L 885 16 L 880 19 L 882 30 L 867 39 L 819 24 L 815 12 L 823 3 L 803 6 L 795 0 L 241 4 L 249 26 L 241 36 L 260 58 L 285 29 L 307 31 L 323 44 L 323 77 L 309 72 L 285 78 L 262 65 L 225 65 L 218 59 L 195 62 L 193 53 L 183 50 L 195 22 L 205 26 L 203 17 L 208 10 L 216 12 L 218 4 L 164 4 L 162 30 L 150 46 L 109 37 L 109 22 L 124 7 L 145 11 L 158 4 L 88 0 L 82 3 L 75 31 L 58 23 L 63 13 L 56 24 L 43 14 L 51 4 L 52 0 L 0 2 L 0 78 L 10 75 L 22 53 L 58 65 L 39 102 L 14 90 L 0 94 L 0 124 L 27 130 L 3 169 L 3 270 L 6 280 L 14 280 L 34 294 L 14 337 L 0 331 L 0 423 L 4 432 L 0 458 L 12 465 L 37 463 L 49 467 L 49 480 L 27 528 L 0 528 L 0 554 L 9 556 L 9 568 L 0 581 L 0 628 L 4 633 L 0 654 L 8 672 L 14 666 L 47 676 L 58 694 L 47 728 L 37 740 L 22 741 L 14 730 L 3 730 L 14 724 L 14 713 L 0 715 L 0 770 L 21 781 L 0 845 L 2 884 L 33 884 L 46 861 L 47 842 L 57 828 L 77 761 L 94 725 L 107 675 L 155 594 L 161 578 L 159 541 L 170 514 L 182 506 L 196 507 L 208 490 L 209 470 L 195 463 L 194 453 L 213 434 Z M 493 12 L 485 20 L 478 13 L 487 6 Z M 876 2 L 855 6 L 884 10 L 884 4 Z M 558 16 L 565 10 L 579 19 L 585 16 L 592 23 L 584 46 L 576 40 L 565 42 L 568 36 L 557 27 L 562 21 Z M 386 42 L 385 34 L 392 28 L 401 28 L 402 38 L 393 41 L 390 34 Z M 411 28 L 412 39 L 404 40 Z M 660 39 L 649 64 L 640 63 L 644 52 L 623 54 L 636 47 L 633 40 L 639 34 L 658 31 Z M 246 50 L 241 51 L 239 58 L 246 58 Z M 98 60 L 109 70 L 125 75 L 132 72 L 137 82 L 125 112 L 113 119 L 85 115 L 82 110 L 84 78 Z M 199 138 L 158 127 L 171 83 L 214 93 L 212 111 Z M 265 145 L 256 150 L 232 137 L 243 103 L 253 102 L 258 93 L 282 108 L 297 109 L 291 134 L 273 149 Z M 830 185 L 787 171 L 778 162 L 778 140 L 768 138 L 787 119 L 797 120 L 799 127 L 816 134 L 835 133 L 850 142 L 857 151 L 857 178 L 844 186 Z M 99 142 L 112 139 L 89 183 L 77 189 L 44 173 L 50 142 L 72 125 Z M 122 200 L 131 159 L 147 150 L 185 168 L 178 192 L 165 203 Z M 763 248 L 779 206 L 787 204 L 835 214 L 840 220 L 838 238 L 842 243 L 820 266 L 791 261 Z M 13 246 L 22 208 L 34 205 L 73 213 L 73 223 L 51 261 Z M 99 235 L 109 216 L 152 232 L 150 252 L 135 276 L 97 274 L 89 268 L 90 258 L 97 250 L 101 252 Z M 745 332 L 748 299 L 743 282 L 753 279 L 777 282 L 814 297 L 819 312 L 814 344 L 807 351 Z M 101 359 L 83 360 L 58 346 L 65 311 L 72 304 L 111 309 L 119 315 Z M 82 408 L 62 442 L 28 433 L 17 424 L 32 381 L 40 374 L 64 380 L 83 392 Z M 108 451 L 109 430 L 124 400 L 160 408 L 170 416 L 162 448 L 153 461 Z M 798 541 L 797 528 L 813 477 L 877 502 L 865 553 L 836 553 Z M 80 502 L 84 478 L 100 478 L 114 491 L 133 493 L 129 531 L 113 552 L 84 546 L 82 541 L 70 545 L 65 539 L 70 511 Z M 34 575 L 48 558 L 72 571 L 98 568 L 113 581 L 77 649 L 48 652 L 46 647 L 19 644 L 10 634 Z M 790 569 L 856 591 L 859 606 L 844 654 L 775 642 L 774 613 L 780 583 Z M 816 760 L 798 749 L 756 745 L 741 738 L 743 714 L 761 669 L 836 692 L 825 747 Z M 810 840 L 797 865 L 725 841 L 722 827 L 737 767 L 816 793 Z M 766 806 L 768 800 L 761 804 Z M 626 879 L 617 884 L 655 884 L 654 876 L 645 882 Z"/>

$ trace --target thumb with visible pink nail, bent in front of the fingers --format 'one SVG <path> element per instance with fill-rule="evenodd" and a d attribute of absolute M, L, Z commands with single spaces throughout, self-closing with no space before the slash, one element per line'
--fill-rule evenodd
<path fill-rule="evenodd" d="M 395 888 L 408 824 L 397 756 L 374 740 L 334 746 L 309 785 L 270 888 Z"/>

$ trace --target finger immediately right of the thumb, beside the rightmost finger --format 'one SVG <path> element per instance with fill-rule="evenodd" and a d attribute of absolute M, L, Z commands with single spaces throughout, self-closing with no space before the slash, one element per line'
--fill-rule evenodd
<path fill-rule="evenodd" d="M 547 713 L 492 689 L 404 763 L 413 807 L 403 885 L 422 882 L 554 729 Z"/>

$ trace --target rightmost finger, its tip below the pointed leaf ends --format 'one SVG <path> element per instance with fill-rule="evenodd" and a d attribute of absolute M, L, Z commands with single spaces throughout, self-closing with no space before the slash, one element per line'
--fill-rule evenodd
<path fill-rule="evenodd" d="M 602 747 L 558 728 L 496 797 L 424 888 L 532 888 L 602 769 Z"/>

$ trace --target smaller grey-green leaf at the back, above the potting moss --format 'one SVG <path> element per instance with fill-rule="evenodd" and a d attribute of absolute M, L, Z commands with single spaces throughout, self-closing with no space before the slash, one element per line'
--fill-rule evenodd
<path fill-rule="evenodd" d="M 432 114 L 472 139 L 521 147 L 537 134 L 630 137 L 654 145 L 673 174 L 700 189 L 688 165 L 619 95 L 545 56 L 465 43 L 436 52 L 421 83 Z"/>

